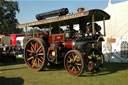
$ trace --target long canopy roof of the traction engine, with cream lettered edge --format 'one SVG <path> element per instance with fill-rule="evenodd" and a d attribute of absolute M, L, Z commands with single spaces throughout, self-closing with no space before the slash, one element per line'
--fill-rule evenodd
<path fill-rule="evenodd" d="M 65 26 L 69 24 L 79 24 L 79 18 L 83 18 L 85 22 L 92 22 L 92 15 L 94 15 L 95 21 L 101 21 L 103 20 L 104 17 L 105 17 L 105 20 L 110 19 L 110 15 L 105 11 L 100 9 L 93 9 L 93 10 L 88 10 L 81 13 L 68 14 L 60 17 L 43 19 L 43 20 L 24 23 L 24 24 L 18 24 L 16 25 L 16 28 L 24 28 L 24 27 L 49 28 L 58 24 L 59 26 Z"/>

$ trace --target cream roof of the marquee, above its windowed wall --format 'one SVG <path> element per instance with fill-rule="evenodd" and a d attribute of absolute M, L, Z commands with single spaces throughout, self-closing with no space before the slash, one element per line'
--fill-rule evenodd
<path fill-rule="evenodd" d="M 128 1 L 112 4 L 109 0 L 108 7 L 104 10 L 111 16 L 106 23 L 107 36 L 128 36 Z"/>

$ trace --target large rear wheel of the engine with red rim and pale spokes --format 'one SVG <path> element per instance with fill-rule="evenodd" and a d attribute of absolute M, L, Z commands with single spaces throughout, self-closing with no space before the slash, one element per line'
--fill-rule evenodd
<path fill-rule="evenodd" d="M 28 67 L 35 71 L 43 67 L 45 62 L 45 50 L 41 42 L 33 39 L 26 44 L 25 61 Z"/>

